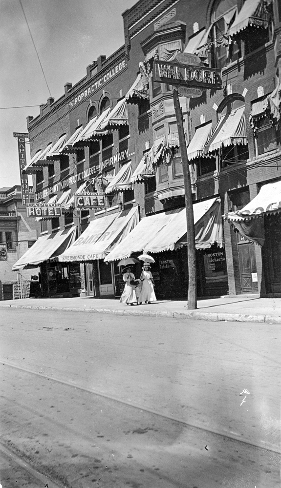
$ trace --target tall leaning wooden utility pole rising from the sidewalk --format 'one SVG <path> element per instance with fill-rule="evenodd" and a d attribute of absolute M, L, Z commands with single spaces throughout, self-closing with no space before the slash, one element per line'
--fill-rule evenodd
<path fill-rule="evenodd" d="M 197 308 L 197 282 L 196 282 L 196 248 L 195 248 L 195 228 L 192 204 L 191 179 L 188 166 L 187 147 L 185 142 L 182 113 L 178 98 L 178 91 L 173 87 L 173 104 L 178 130 L 179 147 L 181 152 L 186 226 L 187 226 L 187 259 L 188 259 L 188 304 L 190 310 Z"/>

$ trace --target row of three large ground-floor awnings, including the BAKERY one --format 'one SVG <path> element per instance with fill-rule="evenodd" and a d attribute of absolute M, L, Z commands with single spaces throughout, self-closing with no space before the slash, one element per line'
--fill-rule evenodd
<path fill-rule="evenodd" d="M 197 249 L 223 245 L 220 199 L 194 203 Z M 47 260 L 87 262 L 116 261 L 133 252 L 157 253 L 187 245 L 186 209 L 177 208 L 139 221 L 138 206 L 109 213 L 91 221 L 78 239 L 76 226 L 41 236 L 14 264 L 13 269 L 36 267 Z"/>

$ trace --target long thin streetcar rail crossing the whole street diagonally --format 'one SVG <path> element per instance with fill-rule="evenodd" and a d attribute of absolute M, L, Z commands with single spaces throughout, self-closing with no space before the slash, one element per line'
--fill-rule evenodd
<path fill-rule="evenodd" d="M 95 390 L 93 390 L 91 388 L 86 388 L 84 386 L 76 385 L 74 382 L 60 380 L 60 379 L 55 378 L 53 376 L 47 376 L 45 374 L 38 373 L 36 371 L 32 371 L 32 370 L 27 369 L 27 368 L 24 368 L 22 366 L 13 365 L 13 364 L 8 363 L 8 362 L 6 362 L 4 360 L 1 360 L 1 359 L 0 359 L 0 362 L 2 363 L 2 366 L 8 366 L 8 367 L 11 367 L 11 368 L 14 368 L 14 369 L 19 369 L 19 370 L 24 371 L 26 373 L 33 374 L 33 375 L 36 375 L 36 376 L 40 376 L 41 378 L 44 378 L 44 379 L 47 379 L 47 380 L 51 380 L 51 381 L 54 381 L 56 383 L 61 383 L 62 385 L 71 386 L 71 387 L 77 388 L 79 390 L 86 391 L 88 393 L 92 393 L 93 395 L 100 396 L 102 398 L 106 398 L 107 400 L 111 400 L 113 402 L 117 402 L 119 404 L 126 405 L 127 407 L 136 408 L 138 410 L 145 411 L 145 412 L 151 413 L 153 415 L 157 415 L 157 416 L 162 417 L 164 419 L 171 420 L 171 421 L 173 421 L 173 422 L 175 422 L 177 424 L 183 425 L 185 427 L 196 428 L 196 429 L 199 429 L 199 430 L 201 430 L 203 432 L 208 432 L 210 434 L 219 435 L 220 437 L 227 438 L 227 439 L 229 439 L 231 441 L 237 441 L 239 443 L 246 444 L 246 445 L 250 445 L 252 447 L 257 447 L 257 448 L 262 449 L 262 450 L 265 450 L 265 451 L 270 451 L 270 452 L 274 452 L 275 454 L 280 454 L 280 452 L 277 451 L 277 450 L 275 450 L 274 448 L 262 447 L 262 446 L 259 446 L 258 444 L 253 444 L 253 443 L 251 443 L 249 441 L 241 440 L 239 437 L 236 437 L 236 436 L 231 436 L 229 434 L 224 434 L 224 433 L 218 432 L 216 430 L 207 429 L 205 427 L 199 427 L 199 426 L 197 426 L 195 424 L 189 424 L 189 423 L 184 422 L 183 420 L 178 419 L 176 417 L 173 417 L 171 415 L 167 415 L 167 414 L 161 413 L 161 412 L 159 412 L 157 410 L 153 410 L 153 409 L 148 408 L 148 407 L 142 407 L 142 406 L 139 406 L 137 404 L 133 404 L 133 403 L 126 402 L 125 400 L 121 400 L 121 399 L 116 398 L 114 396 L 110 396 L 110 395 L 107 395 L 105 393 L 101 393 L 101 392 L 95 391 Z"/>

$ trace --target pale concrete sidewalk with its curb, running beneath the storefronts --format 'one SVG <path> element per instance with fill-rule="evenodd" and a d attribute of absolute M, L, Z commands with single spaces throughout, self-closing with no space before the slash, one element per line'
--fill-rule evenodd
<path fill-rule="evenodd" d="M 197 310 L 188 310 L 186 301 L 162 300 L 151 305 L 130 306 L 119 303 L 119 300 L 93 297 L 6 300 L 0 302 L 1 307 L 281 324 L 281 298 L 258 298 L 255 295 L 199 300 Z"/>

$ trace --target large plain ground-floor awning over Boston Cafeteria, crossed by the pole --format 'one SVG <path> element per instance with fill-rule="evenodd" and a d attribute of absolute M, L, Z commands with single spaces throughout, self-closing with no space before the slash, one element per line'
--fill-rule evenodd
<path fill-rule="evenodd" d="M 223 245 L 223 229 L 220 199 L 213 198 L 193 204 L 195 220 L 195 244 L 205 249 L 212 244 Z M 145 217 L 111 251 L 105 261 L 129 257 L 133 252 L 162 252 L 187 245 L 186 209 L 177 208 Z"/>

